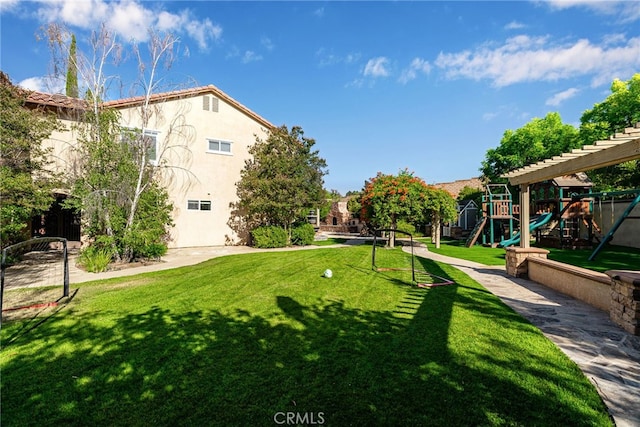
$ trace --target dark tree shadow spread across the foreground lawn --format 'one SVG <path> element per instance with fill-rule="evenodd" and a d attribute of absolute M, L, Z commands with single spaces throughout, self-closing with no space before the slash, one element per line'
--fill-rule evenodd
<path fill-rule="evenodd" d="M 523 347 L 517 375 L 540 386 L 528 389 L 500 357 L 519 344 L 451 336 L 454 311 L 483 295 L 461 286 L 407 287 L 407 312 L 287 295 L 268 316 L 152 307 L 107 325 L 67 312 L 3 349 L 3 425 L 274 425 L 279 412 L 322 413 L 326 425 L 593 423 L 554 394 L 561 367 L 532 370 Z M 480 304 L 504 316 L 490 296 Z M 460 339 L 500 370 L 452 352 Z"/>

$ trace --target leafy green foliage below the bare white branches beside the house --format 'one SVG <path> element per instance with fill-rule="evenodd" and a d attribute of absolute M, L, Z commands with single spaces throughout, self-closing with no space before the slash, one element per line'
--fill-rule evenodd
<path fill-rule="evenodd" d="M 145 168 L 144 191 L 133 202 L 140 170 L 136 130 L 120 127 L 117 111 L 88 110 L 78 132 L 78 175 L 68 205 L 83 212 L 84 234 L 94 246 L 111 251 L 117 261 L 157 258 L 166 251 L 171 225 L 168 193 L 153 179 L 153 166 Z M 123 143 L 123 141 L 133 143 Z M 131 212 L 133 211 L 133 218 Z M 98 249 L 100 249 L 98 248 Z"/>

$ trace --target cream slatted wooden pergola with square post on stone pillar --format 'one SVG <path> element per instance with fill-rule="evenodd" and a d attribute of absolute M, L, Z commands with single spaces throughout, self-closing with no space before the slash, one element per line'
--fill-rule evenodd
<path fill-rule="evenodd" d="M 616 133 L 608 140 L 596 141 L 593 145 L 585 145 L 502 175 L 509 179 L 511 185 L 520 186 L 520 247 L 528 248 L 531 240 L 529 185 L 635 159 L 640 159 L 640 123 Z"/>

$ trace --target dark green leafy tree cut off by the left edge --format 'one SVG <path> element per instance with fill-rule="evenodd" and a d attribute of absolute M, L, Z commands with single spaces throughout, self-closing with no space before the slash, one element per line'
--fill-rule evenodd
<path fill-rule="evenodd" d="M 59 176 L 47 165 L 42 142 L 55 117 L 25 108 L 27 92 L 0 72 L 0 246 L 24 240 L 27 224 L 55 201 Z"/>

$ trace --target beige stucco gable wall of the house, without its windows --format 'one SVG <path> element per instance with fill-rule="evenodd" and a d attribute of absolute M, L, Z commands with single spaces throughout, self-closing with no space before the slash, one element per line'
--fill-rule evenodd
<path fill-rule="evenodd" d="M 204 95 L 211 96 L 211 95 Z M 158 167 L 174 204 L 169 247 L 235 244 L 229 226 L 235 184 L 249 158 L 248 147 L 267 130 L 242 111 L 218 101 L 218 111 L 203 110 L 203 96 L 155 104 L 149 130 L 158 132 Z M 123 109 L 122 124 L 140 127 L 139 110 Z M 207 139 L 231 142 L 231 154 L 208 151 Z M 188 210 L 188 200 L 211 201 L 211 210 Z"/>

